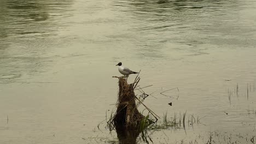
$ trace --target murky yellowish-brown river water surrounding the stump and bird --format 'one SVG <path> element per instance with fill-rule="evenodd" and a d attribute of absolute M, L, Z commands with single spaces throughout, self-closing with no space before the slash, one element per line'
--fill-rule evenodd
<path fill-rule="evenodd" d="M 144 102 L 158 115 L 203 117 L 187 135 L 156 131 L 155 143 L 253 134 L 255 39 L 255 1 L 2 0 L 0 143 L 116 140 L 97 124 L 114 109 L 118 62 L 142 70 L 140 85 L 155 97 Z"/>

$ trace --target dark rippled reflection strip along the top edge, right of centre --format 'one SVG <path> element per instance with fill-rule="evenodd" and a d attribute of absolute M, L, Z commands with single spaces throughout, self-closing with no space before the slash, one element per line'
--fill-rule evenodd
<path fill-rule="evenodd" d="M 126 11 L 143 16 L 144 19 L 154 21 L 175 21 L 194 19 L 193 15 L 200 16 L 202 13 L 216 13 L 217 11 L 229 11 L 239 7 L 237 1 L 185 1 L 185 0 L 155 0 L 155 1 L 120 1 L 115 4 L 118 7 L 127 7 Z M 232 5 L 230 5 L 232 3 Z M 130 6 L 129 6 L 130 5 Z M 157 17 L 161 17 L 156 19 Z M 162 19 L 164 18 L 164 19 Z"/>

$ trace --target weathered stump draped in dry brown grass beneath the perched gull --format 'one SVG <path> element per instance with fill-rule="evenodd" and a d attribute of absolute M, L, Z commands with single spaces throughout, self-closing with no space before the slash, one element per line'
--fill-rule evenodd
<path fill-rule="evenodd" d="M 117 76 L 113 76 L 117 77 Z M 117 111 L 115 112 L 114 116 L 109 119 L 108 127 L 110 130 L 117 129 L 120 127 L 125 127 L 127 129 L 137 129 L 141 128 L 142 123 L 146 122 L 152 124 L 156 122 L 158 119 L 156 118 L 157 115 L 153 111 L 151 111 L 146 105 L 139 100 L 134 92 L 140 78 L 135 78 L 135 81 L 131 84 L 127 83 L 127 80 L 124 77 L 117 77 L 119 79 L 119 93 L 118 93 L 118 101 L 117 101 Z M 144 105 L 149 113 L 155 117 L 155 121 L 149 119 L 148 116 L 143 116 L 137 109 L 136 100 L 138 103 Z M 157 116 L 158 117 L 158 116 Z"/>

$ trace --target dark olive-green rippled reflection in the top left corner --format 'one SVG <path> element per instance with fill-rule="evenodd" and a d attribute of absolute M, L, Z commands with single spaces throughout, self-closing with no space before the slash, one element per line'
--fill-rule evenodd
<path fill-rule="evenodd" d="M 8 25 L 5 31 L 8 35 L 39 33 L 50 31 L 51 26 L 58 23 L 58 20 L 70 16 L 66 10 L 72 4 L 72 0 L 61 2 L 55 1 L 28 1 L 9 0 L 0 2 L 3 10 L 1 15 L 4 19 L 2 25 Z M 55 13 L 55 15 L 53 15 Z M 57 14 L 57 15 L 56 15 Z M 57 20 L 57 21 L 56 21 Z M 4 31 L 4 29 L 2 30 Z M 53 29 L 51 29 L 53 31 Z"/>

